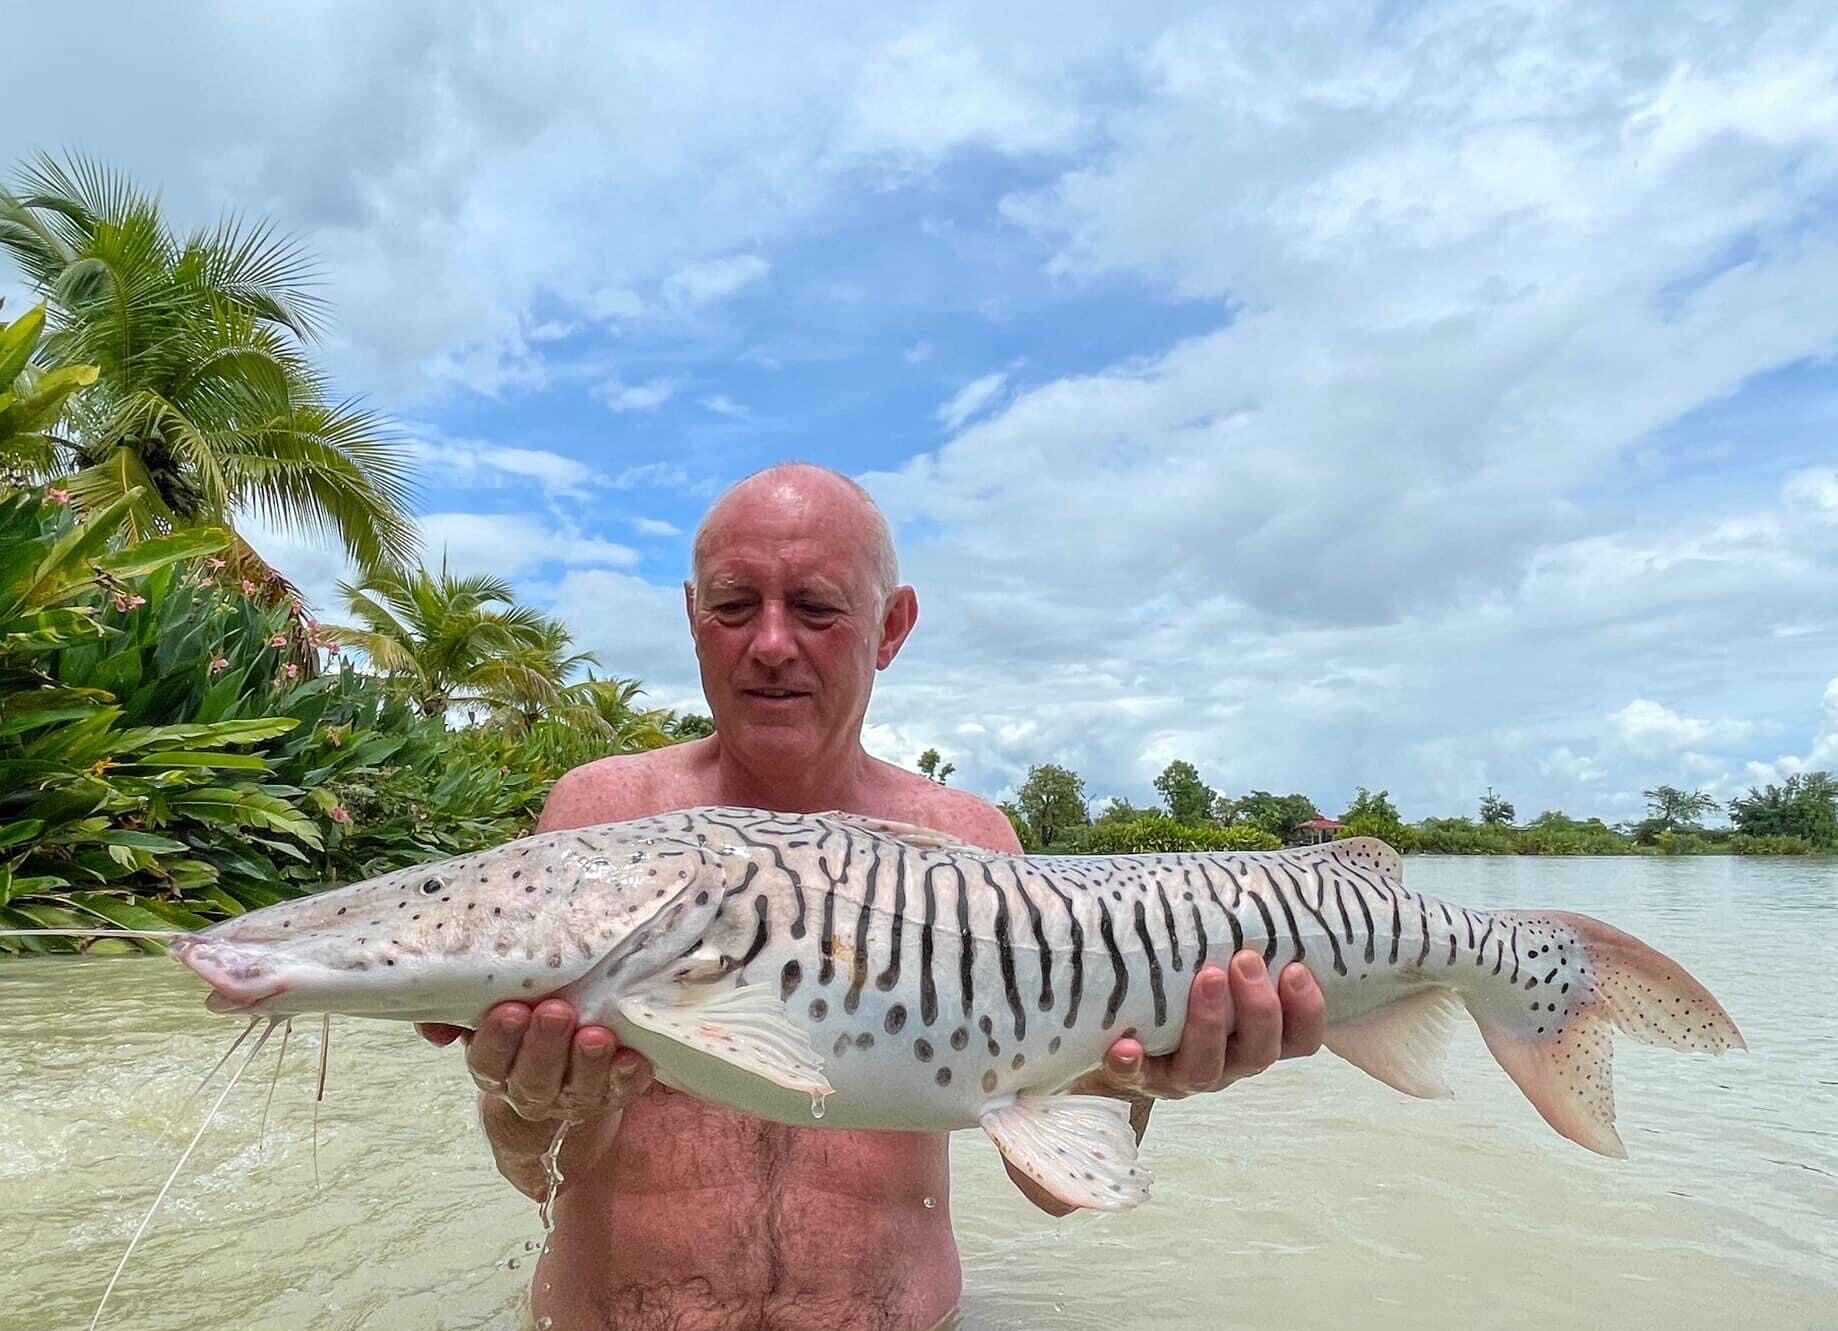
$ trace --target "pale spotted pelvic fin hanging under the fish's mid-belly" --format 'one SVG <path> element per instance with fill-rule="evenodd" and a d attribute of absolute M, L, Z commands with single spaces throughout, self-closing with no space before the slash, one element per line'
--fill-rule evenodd
<path fill-rule="evenodd" d="M 1129 1212 L 1149 1197 L 1154 1178 L 1121 1099 L 1022 1094 L 980 1121 L 1011 1166 L 1068 1206 Z"/>

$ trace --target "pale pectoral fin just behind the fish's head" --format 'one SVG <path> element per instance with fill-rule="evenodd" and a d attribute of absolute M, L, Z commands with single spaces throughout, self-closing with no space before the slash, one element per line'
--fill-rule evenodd
<path fill-rule="evenodd" d="M 816 1098 L 833 1090 L 811 1037 L 792 1026 L 783 1000 L 765 985 L 647 985 L 619 1000 L 619 1015 L 774 1086 Z"/>

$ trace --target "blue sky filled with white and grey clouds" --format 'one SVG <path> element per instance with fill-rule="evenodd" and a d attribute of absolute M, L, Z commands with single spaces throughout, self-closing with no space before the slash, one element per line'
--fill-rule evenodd
<path fill-rule="evenodd" d="M 869 750 L 989 798 L 1838 768 L 1838 9 L 1123 9 L 40 6 L 6 138 L 300 237 L 428 561 L 654 704 L 801 458 L 919 596 Z"/>

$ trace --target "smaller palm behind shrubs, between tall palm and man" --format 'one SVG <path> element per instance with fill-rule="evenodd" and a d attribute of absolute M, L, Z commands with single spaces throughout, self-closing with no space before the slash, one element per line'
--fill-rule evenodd
<path fill-rule="evenodd" d="M 379 568 L 338 594 L 353 623 L 320 632 L 369 656 L 428 717 L 467 702 L 496 710 L 551 699 L 561 671 L 583 660 L 562 660 L 566 634 L 557 645 L 551 621 L 516 605 L 502 577 L 456 577 L 445 563 L 437 575 Z"/>

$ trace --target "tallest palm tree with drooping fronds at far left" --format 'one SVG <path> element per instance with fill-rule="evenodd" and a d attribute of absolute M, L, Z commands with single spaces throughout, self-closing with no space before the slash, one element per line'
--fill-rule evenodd
<path fill-rule="evenodd" d="M 0 189 L 0 246 L 51 307 L 40 364 L 99 370 L 37 480 L 85 509 L 140 487 L 136 540 L 255 513 L 362 570 L 412 557 L 408 454 L 307 360 L 322 303 L 298 246 L 235 219 L 180 239 L 151 195 L 48 156 Z"/>

